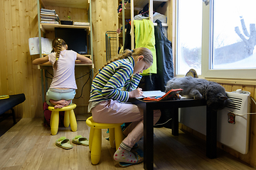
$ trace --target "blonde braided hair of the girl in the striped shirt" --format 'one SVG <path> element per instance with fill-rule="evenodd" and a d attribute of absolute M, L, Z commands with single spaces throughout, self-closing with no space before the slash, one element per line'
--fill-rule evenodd
<path fill-rule="evenodd" d="M 114 58 L 113 60 L 110 60 L 110 62 L 107 62 L 100 70 L 102 70 L 107 64 L 110 64 L 111 62 L 120 60 L 120 59 L 125 59 L 127 57 L 134 57 L 134 60 L 137 60 L 139 56 L 143 55 L 143 61 L 149 64 L 153 63 L 153 55 L 151 50 L 149 50 L 146 47 L 138 47 L 135 48 L 134 50 L 124 50 L 122 54 L 120 54 L 117 58 Z M 95 74 L 94 78 L 97 76 L 97 74 L 100 72 L 100 70 Z"/>

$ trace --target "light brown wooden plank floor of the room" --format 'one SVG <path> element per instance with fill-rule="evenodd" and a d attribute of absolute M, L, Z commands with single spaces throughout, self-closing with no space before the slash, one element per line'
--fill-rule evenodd
<path fill-rule="evenodd" d="M 0 170 L 122 169 L 112 159 L 114 149 L 105 140 L 107 130 L 102 130 L 102 157 L 98 165 L 90 163 L 88 147 L 73 145 L 73 149 L 65 150 L 55 146 L 55 140 L 62 136 L 70 140 L 75 135 L 89 137 L 85 123 L 89 116 L 77 115 L 77 132 L 71 132 L 70 128 L 59 128 L 55 136 L 50 135 L 50 128 L 43 125 L 42 118 L 19 120 L 0 137 Z M 222 150 L 218 150 L 217 159 L 208 159 L 206 142 L 181 130 L 174 137 L 170 129 L 154 128 L 154 135 L 154 169 L 254 169 Z M 138 143 L 143 149 L 143 141 Z M 143 163 L 126 169 L 143 169 Z"/>

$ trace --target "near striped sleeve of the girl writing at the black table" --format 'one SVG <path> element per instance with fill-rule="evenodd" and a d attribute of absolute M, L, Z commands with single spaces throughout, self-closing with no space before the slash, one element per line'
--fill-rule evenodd
<path fill-rule="evenodd" d="M 102 89 L 102 96 L 121 102 L 128 101 L 128 91 L 122 91 L 122 88 L 124 87 L 124 84 L 126 84 L 126 81 L 129 81 L 132 72 L 133 67 L 131 64 L 120 64 L 119 67 L 116 68 L 116 72 Z"/>

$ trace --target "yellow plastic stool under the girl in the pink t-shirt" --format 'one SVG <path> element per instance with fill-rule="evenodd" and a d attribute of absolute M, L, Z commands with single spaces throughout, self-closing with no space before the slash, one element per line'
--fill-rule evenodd
<path fill-rule="evenodd" d="M 64 113 L 64 126 L 70 128 L 73 132 L 78 130 L 78 123 L 75 119 L 75 113 L 73 109 L 76 108 L 74 103 L 71 103 L 69 106 L 65 106 L 63 108 L 54 108 L 54 106 L 48 106 L 48 110 L 52 111 L 50 115 L 50 132 L 51 135 L 56 135 L 58 132 L 58 125 L 59 125 L 59 112 L 65 111 Z"/>

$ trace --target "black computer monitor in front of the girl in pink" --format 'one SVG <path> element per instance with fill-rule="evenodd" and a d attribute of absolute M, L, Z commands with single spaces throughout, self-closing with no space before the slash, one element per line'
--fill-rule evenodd
<path fill-rule="evenodd" d="M 55 28 L 55 38 L 65 40 L 68 50 L 74 50 L 80 55 L 87 54 L 87 31 L 85 28 Z"/>

